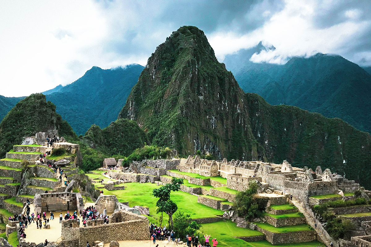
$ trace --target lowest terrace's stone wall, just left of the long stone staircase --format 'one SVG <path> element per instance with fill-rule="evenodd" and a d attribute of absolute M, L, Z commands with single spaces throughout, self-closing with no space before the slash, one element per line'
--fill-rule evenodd
<path fill-rule="evenodd" d="M 266 240 L 271 244 L 302 243 L 316 240 L 315 231 L 295 231 L 291 233 L 272 233 L 260 227 L 256 230 L 265 234 Z"/>

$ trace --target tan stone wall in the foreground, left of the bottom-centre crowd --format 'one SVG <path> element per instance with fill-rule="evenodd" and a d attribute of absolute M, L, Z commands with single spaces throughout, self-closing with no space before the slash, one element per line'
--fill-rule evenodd
<path fill-rule="evenodd" d="M 133 214 L 124 210 L 111 216 L 111 221 L 116 221 L 116 217 L 125 220 L 100 226 L 80 227 L 79 228 L 79 247 L 85 247 L 86 241 L 123 241 L 123 240 L 149 240 L 150 230 L 147 217 Z M 125 229 L 125 230 L 122 230 Z"/>

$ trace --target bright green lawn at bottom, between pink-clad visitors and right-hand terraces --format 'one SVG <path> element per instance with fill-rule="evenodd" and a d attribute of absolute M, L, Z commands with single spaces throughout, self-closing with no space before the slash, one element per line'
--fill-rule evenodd
<path fill-rule="evenodd" d="M 233 223 L 230 220 L 202 224 L 200 230 L 203 231 L 205 235 L 211 234 L 210 240 L 216 238 L 218 241 L 218 247 L 244 247 L 248 243 L 235 237 L 253 237 L 263 235 L 263 233 L 259 231 L 237 227 L 236 223 Z"/>

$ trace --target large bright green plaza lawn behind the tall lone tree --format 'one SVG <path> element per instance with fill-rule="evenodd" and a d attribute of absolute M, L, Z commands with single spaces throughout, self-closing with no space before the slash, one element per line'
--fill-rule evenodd
<path fill-rule="evenodd" d="M 125 190 L 111 190 L 108 191 L 103 189 L 105 195 L 116 195 L 120 202 L 129 202 L 129 206 L 143 206 L 150 208 L 150 214 L 148 216 L 150 222 L 158 223 L 160 214 L 156 213 L 156 202 L 158 198 L 152 195 L 152 190 L 158 188 L 156 184 L 152 183 L 127 183 L 125 184 Z M 189 214 L 191 218 L 209 218 L 221 215 L 221 211 L 197 203 L 197 196 L 185 193 L 183 191 L 171 192 L 171 200 L 173 200 L 178 210 Z M 168 221 L 168 216 L 164 214 L 164 221 Z"/>

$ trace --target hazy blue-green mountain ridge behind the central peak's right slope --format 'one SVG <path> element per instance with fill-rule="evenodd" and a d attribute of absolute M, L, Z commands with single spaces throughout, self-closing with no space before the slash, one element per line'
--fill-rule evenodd
<path fill-rule="evenodd" d="M 247 59 L 251 53 L 239 59 L 240 54 L 247 53 L 243 50 L 224 60 L 245 92 L 257 93 L 273 105 L 298 106 L 326 117 L 338 117 L 371 133 L 368 68 L 362 69 L 338 55 L 321 53 L 293 57 L 284 65 L 253 63 Z M 233 59 L 241 61 L 239 66 L 231 62 Z"/>

